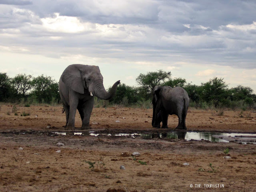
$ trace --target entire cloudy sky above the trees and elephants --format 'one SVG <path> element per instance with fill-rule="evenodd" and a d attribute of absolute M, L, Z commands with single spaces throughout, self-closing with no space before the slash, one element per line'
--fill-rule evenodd
<path fill-rule="evenodd" d="M 162 69 L 256 92 L 255 0 L 0 0 L 0 72 L 98 65 L 106 88 Z"/>

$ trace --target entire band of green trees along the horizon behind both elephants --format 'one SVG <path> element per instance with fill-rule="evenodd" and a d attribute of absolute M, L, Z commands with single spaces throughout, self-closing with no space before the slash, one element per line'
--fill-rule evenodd
<path fill-rule="evenodd" d="M 140 74 L 136 78 L 138 86 L 120 84 L 114 98 L 105 102 L 95 98 L 95 105 L 122 104 L 123 106 L 149 106 L 154 86 L 180 86 L 188 92 L 190 106 L 199 108 L 256 108 L 256 94 L 252 88 L 238 85 L 228 88 L 224 78 L 214 77 L 201 85 L 187 82 L 184 78 L 172 78 L 171 72 L 157 70 Z M 109 88 L 110 90 L 110 88 Z M 50 76 L 18 74 L 10 78 L 0 73 L 0 102 L 59 103 L 58 82 Z"/>

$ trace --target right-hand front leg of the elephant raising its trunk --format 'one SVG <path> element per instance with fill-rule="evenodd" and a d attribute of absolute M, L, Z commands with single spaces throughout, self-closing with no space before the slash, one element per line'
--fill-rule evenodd
<path fill-rule="evenodd" d="M 82 120 L 82 128 L 81 129 L 91 129 L 90 126 L 90 117 L 92 114 L 92 108 L 94 105 L 94 98 L 88 100 L 84 103 L 84 108 L 82 109 L 82 112 L 84 114 L 84 118 Z"/>

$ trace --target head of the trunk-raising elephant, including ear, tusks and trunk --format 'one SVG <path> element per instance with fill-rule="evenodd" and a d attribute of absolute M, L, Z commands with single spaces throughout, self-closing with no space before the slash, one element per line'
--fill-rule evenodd
<path fill-rule="evenodd" d="M 109 100 L 116 92 L 120 80 L 117 81 L 109 92 L 103 86 L 103 77 L 98 66 L 73 64 L 68 66 L 61 80 L 75 92 L 80 94 L 90 94 L 100 99 Z"/>

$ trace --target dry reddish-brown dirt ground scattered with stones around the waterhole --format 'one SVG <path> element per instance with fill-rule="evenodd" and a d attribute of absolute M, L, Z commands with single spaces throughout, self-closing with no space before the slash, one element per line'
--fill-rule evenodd
<path fill-rule="evenodd" d="M 65 132 L 61 106 L 2 104 L 0 191 L 256 192 L 255 144 L 115 136 L 166 133 L 178 124 L 177 116 L 169 116 L 169 129 L 157 129 L 151 120 L 152 109 L 94 108 L 91 130 L 99 136 L 62 135 L 54 133 Z M 186 122 L 188 131 L 256 132 L 256 113 L 250 111 L 220 116 L 220 111 L 189 109 Z M 226 148 L 229 159 L 224 159 Z M 133 152 L 140 156 L 133 158 Z M 95 162 L 94 170 L 88 162 Z"/>

